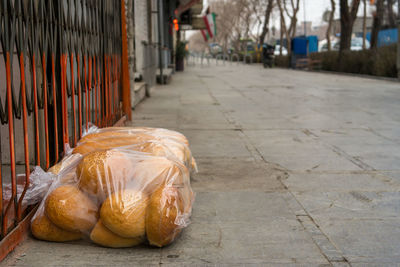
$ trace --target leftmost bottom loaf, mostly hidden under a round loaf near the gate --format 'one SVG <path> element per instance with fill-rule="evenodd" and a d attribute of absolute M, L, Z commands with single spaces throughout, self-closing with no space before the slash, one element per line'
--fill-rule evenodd
<path fill-rule="evenodd" d="M 46 241 L 66 242 L 82 238 L 81 233 L 69 232 L 57 227 L 43 212 L 36 214 L 31 223 L 31 230 L 34 237 Z"/>

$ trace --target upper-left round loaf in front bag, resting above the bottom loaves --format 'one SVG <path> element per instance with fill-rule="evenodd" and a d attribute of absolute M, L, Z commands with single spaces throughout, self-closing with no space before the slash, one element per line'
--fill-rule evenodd
<path fill-rule="evenodd" d="M 96 151 L 79 163 L 77 175 L 80 189 L 104 200 L 126 187 L 132 177 L 132 160 L 120 151 Z"/>

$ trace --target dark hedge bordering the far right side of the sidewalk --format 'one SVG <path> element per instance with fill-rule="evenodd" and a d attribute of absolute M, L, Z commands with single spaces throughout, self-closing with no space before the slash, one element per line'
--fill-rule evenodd
<path fill-rule="evenodd" d="M 322 70 L 326 71 L 397 77 L 396 45 L 380 47 L 376 52 L 372 50 L 346 51 L 343 53 L 341 62 L 339 62 L 338 51 L 313 53 L 310 58 L 321 60 Z M 289 57 L 277 56 L 275 65 L 288 67 Z"/>

